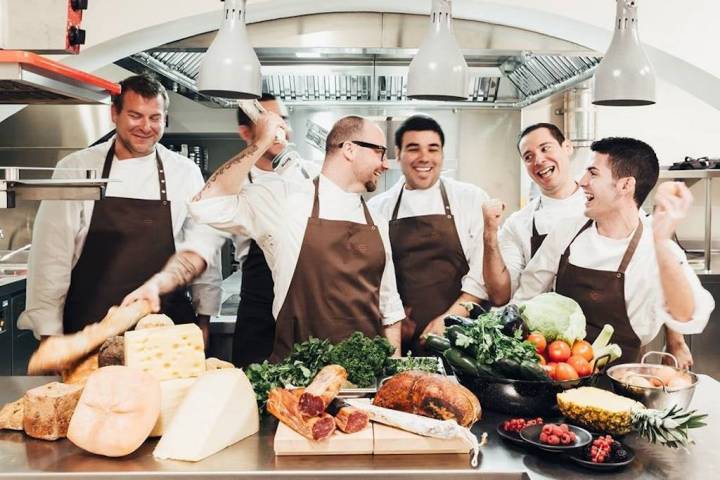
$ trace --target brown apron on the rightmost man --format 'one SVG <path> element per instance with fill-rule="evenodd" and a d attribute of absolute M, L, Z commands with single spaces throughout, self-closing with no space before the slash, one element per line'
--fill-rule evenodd
<path fill-rule="evenodd" d="M 630 325 L 625 303 L 625 270 L 640 242 L 643 224 L 640 222 L 630 240 L 617 272 L 592 270 L 575 266 L 569 262 L 570 245 L 593 221 L 588 220 L 568 244 L 560 257 L 555 291 L 570 297 L 582 308 L 587 320 L 587 339 L 592 342 L 606 323 L 615 328 L 612 342 L 622 348 L 622 357 L 617 363 L 637 362 L 640 359 L 640 338 Z"/>

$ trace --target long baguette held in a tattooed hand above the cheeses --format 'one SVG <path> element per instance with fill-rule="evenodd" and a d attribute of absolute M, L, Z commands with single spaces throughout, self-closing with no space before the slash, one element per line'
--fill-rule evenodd
<path fill-rule="evenodd" d="M 112 307 L 98 323 L 71 335 L 50 337 L 40 344 L 28 365 L 28 375 L 60 372 L 97 350 L 105 340 L 131 329 L 151 311 L 146 300 L 126 307 Z"/>

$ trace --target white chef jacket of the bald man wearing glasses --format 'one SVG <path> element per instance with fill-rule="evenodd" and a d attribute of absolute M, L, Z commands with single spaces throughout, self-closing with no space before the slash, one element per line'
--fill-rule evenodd
<path fill-rule="evenodd" d="M 342 190 L 324 175 L 319 178 L 320 218 L 367 223 L 360 194 Z M 197 222 L 234 235 L 248 236 L 257 242 L 265 254 L 275 283 L 275 318 L 285 302 L 300 256 L 305 227 L 312 213 L 314 192 L 312 180 L 273 175 L 262 183 L 245 183 L 237 195 L 190 203 L 190 213 Z M 383 323 L 391 325 L 405 318 L 405 312 L 395 283 L 387 220 L 377 212 L 371 213 L 371 216 L 385 248 L 380 311 Z"/>

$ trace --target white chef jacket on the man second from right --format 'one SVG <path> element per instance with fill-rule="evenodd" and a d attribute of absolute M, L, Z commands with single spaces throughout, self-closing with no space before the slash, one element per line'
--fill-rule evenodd
<path fill-rule="evenodd" d="M 585 193 L 578 187 L 575 193 L 561 200 L 540 195 L 505 220 L 498 233 L 498 243 L 510 274 L 512 293 L 517 290 L 520 274 L 532 256 L 530 238 L 533 218 L 538 234 L 545 235 L 565 221 L 582 215 L 584 211 Z M 470 272 L 463 280 L 463 291 L 487 299 L 487 289 L 483 280 L 483 250 L 480 249 L 471 258 Z"/>

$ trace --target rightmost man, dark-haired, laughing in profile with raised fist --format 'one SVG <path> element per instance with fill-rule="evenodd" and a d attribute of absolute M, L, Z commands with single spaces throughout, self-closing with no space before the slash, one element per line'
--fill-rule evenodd
<path fill-rule="evenodd" d="M 554 285 L 580 304 L 589 338 L 612 324 L 621 361 L 635 362 L 662 325 L 681 334 L 702 332 L 715 304 L 672 241 L 692 203 L 685 185 L 660 186 L 647 217 L 640 205 L 658 179 L 653 149 L 631 138 L 606 138 L 591 150 L 592 164 L 580 181 L 585 216 L 548 234 L 523 271 L 513 302 Z"/>

